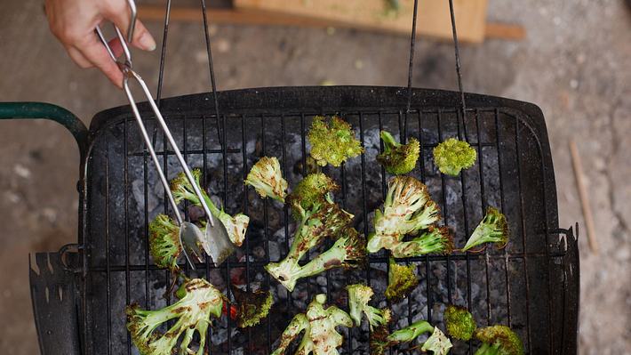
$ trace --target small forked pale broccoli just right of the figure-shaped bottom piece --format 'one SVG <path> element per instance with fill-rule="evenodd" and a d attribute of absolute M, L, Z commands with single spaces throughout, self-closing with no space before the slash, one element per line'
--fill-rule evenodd
<path fill-rule="evenodd" d="M 362 324 L 362 313 L 366 315 L 368 324 L 373 327 L 385 326 L 390 321 L 390 310 L 372 307 L 368 303 L 371 301 L 372 288 L 370 286 L 355 284 L 347 286 L 348 309 L 350 318 L 355 322 L 355 327 Z"/>

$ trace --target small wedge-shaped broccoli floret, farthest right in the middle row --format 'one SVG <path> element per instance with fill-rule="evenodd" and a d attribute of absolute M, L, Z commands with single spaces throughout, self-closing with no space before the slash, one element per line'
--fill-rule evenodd
<path fill-rule="evenodd" d="M 508 224 L 506 216 L 499 212 L 497 208 L 489 207 L 482 221 L 475 227 L 467 244 L 462 248 L 463 252 L 484 243 L 496 243 L 498 249 L 503 248 L 508 243 Z"/>

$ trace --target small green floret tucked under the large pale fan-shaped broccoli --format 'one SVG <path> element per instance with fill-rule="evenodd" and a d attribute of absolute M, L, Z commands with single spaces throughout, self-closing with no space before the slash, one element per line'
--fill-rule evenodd
<path fill-rule="evenodd" d="M 419 237 L 404 241 L 392 248 L 395 258 L 404 258 L 422 254 L 451 254 L 453 239 L 447 227 L 430 226 Z"/>

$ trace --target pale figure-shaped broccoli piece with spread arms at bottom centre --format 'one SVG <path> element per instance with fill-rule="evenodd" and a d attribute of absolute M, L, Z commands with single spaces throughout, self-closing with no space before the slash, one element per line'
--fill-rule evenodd
<path fill-rule="evenodd" d="M 347 312 L 335 306 L 324 309 L 326 295 L 317 294 L 315 300 L 309 303 L 306 313 L 297 314 L 283 335 L 280 344 L 272 355 L 283 355 L 287 347 L 304 330 L 302 341 L 296 350 L 296 355 L 337 355 L 337 348 L 342 344 L 343 337 L 336 327 L 353 327 L 353 320 Z"/>

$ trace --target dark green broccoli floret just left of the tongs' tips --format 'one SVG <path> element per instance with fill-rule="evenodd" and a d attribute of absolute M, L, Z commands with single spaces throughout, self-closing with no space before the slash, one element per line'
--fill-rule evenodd
<path fill-rule="evenodd" d="M 182 253 L 180 227 L 171 217 L 158 214 L 149 223 L 149 253 L 158 267 L 180 270 L 178 257 Z"/>

